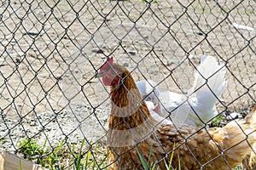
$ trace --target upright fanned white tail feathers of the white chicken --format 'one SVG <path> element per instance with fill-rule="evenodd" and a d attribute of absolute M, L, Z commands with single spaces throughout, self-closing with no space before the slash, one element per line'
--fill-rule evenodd
<path fill-rule="evenodd" d="M 225 72 L 224 64 L 218 65 L 214 57 L 203 55 L 201 65 L 195 69 L 195 82 L 191 92 L 196 91 L 199 101 L 215 105 L 227 85 Z"/>

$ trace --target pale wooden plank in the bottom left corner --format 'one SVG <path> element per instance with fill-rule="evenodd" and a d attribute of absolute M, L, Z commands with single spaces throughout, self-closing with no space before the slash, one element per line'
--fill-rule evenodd
<path fill-rule="evenodd" d="M 20 156 L 0 150 L 0 170 L 46 170 L 32 161 L 26 161 Z"/>

